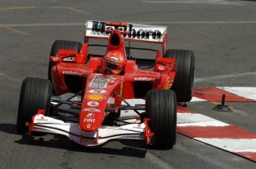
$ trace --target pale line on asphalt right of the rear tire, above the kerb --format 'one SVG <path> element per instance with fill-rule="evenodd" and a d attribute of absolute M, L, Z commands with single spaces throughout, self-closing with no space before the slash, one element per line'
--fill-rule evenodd
<path fill-rule="evenodd" d="M 256 72 L 246 72 L 246 73 L 241 73 L 241 74 L 226 74 L 226 75 L 220 75 L 220 76 L 208 76 L 208 77 L 195 79 L 195 83 L 214 81 L 214 80 L 218 80 L 218 79 L 228 79 L 228 78 L 233 78 L 233 77 L 255 76 L 255 75 L 256 75 Z"/>

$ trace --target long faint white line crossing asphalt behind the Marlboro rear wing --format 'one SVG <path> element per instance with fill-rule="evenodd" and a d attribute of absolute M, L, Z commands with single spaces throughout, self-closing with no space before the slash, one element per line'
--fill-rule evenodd
<path fill-rule="evenodd" d="M 157 21 L 157 22 L 138 22 L 127 21 L 125 23 L 140 24 L 255 24 L 256 20 L 247 21 Z M 18 24 L 0 24 L 0 27 L 37 27 L 37 26 L 72 26 L 84 25 L 85 23 L 18 23 Z"/>

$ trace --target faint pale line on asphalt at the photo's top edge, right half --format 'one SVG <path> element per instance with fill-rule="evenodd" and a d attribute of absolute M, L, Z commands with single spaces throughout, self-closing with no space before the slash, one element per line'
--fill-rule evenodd
<path fill-rule="evenodd" d="M 222 1 L 222 0 L 191 0 L 191 1 L 142 1 L 149 4 L 227 4 L 227 5 L 242 5 L 234 1 Z"/>

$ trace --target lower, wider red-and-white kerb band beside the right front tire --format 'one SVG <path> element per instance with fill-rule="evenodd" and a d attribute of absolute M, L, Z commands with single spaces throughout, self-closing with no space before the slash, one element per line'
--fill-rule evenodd
<path fill-rule="evenodd" d="M 177 133 L 256 162 L 256 133 L 181 106 L 177 111 Z"/>

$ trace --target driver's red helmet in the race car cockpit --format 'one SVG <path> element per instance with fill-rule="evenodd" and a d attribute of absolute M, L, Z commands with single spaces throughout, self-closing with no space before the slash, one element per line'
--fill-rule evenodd
<path fill-rule="evenodd" d="M 126 63 L 125 56 L 119 51 L 107 52 L 103 57 L 103 68 L 111 71 L 112 74 L 120 74 Z"/>

